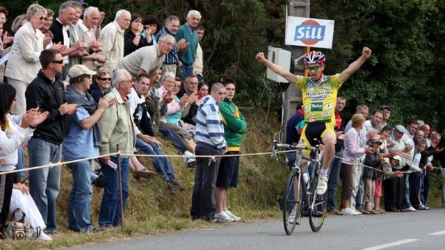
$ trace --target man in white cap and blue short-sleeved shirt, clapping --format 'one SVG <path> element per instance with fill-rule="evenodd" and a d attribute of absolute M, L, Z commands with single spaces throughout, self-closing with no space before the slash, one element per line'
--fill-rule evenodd
<path fill-rule="evenodd" d="M 99 156 L 101 142 L 97 122 L 110 107 L 115 98 L 103 97 L 97 104 L 87 92 L 92 75 L 96 72 L 85 65 L 74 65 L 70 68 L 70 85 L 67 86 L 65 99 L 68 103 L 77 104 L 76 113 L 67 117 L 70 128 L 63 140 L 63 158 L 65 161 Z M 68 202 L 68 228 L 77 232 L 95 231 L 90 221 L 90 200 L 92 196 L 91 167 L 92 160 L 67 164 L 72 171 L 72 189 Z"/>

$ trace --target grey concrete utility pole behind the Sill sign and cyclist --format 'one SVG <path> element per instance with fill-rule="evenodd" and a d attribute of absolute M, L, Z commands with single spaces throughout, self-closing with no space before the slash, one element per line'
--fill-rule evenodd
<path fill-rule="evenodd" d="M 310 0 L 289 0 L 288 4 L 288 15 L 290 17 L 309 17 L 310 13 Z M 302 54 L 306 53 L 305 47 L 291 46 L 293 57 L 296 59 Z M 305 65 L 302 60 L 298 62 L 295 68 L 296 75 L 304 75 Z M 289 84 L 289 87 L 283 93 L 283 140 L 286 136 L 286 124 L 289 118 L 293 116 L 296 112 L 297 102 L 301 102 L 301 91 L 300 88 L 295 86 L 294 82 Z"/>

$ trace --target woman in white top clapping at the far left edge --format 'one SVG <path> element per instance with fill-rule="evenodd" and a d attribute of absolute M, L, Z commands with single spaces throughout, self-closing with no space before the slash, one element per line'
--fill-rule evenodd
<path fill-rule="evenodd" d="M 13 204 L 11 195 L 14 173 L 2 174 L 1 172 L 15 169 L 18 160 L 17 148 L 33 136 L 34 130 L 31 127 L 39 125 L 48 117 L 48 112 L 40 113 L 38 108 L 30 109 L 22 116 L 11 116 L 9 112 L 13 111 L 17 102 L 15 97 L 15 88 L 10 84 L 0 82 L 0 158 L 2 158 L 0 161 L 0 224 L 2 226 L 6 224 L 10 204 Z M 32 226 L 44 227 L 44 224 L 32 224 Z"/>

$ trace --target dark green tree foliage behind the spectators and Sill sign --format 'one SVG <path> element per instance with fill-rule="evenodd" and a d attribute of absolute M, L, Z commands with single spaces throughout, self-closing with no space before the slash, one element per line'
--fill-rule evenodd
<path fill-rule="evenodd" d="M 7 28 L 9 20 L 26 11 L 24 2 L 1 3 L 10 10 Z M 207 28 L 202 48 L 208 81 L 236 79 L 241 106 L 264 108 L 272 103 L 278 111 L 282 90 L 273 83 L 264 85 L 265 68 L 254 56 L 269 45 L 284 45 L 286 2 L 99 0 L 92 5 L 106 11 L 106 22 L 111 22 L 120 8 L 154 15 L 161 21 L 177 15 L 183 22 L 188 10 L 200 10 Z M 56 9 L 60 1 L 39 3 Z M 348 114 L 357 104 L 367 104 L 371 110 L 387 104 L 392 110 L 391 124 L 416 118 L 444 130 L 444 10 L 445 0 L 311 1 L 311 17 L 335 21 L 333 48 L 322 49 L 327 55 L 327 74 L 341 72 L 361 54 L 363 46 L 373 50 L 371 59 L 339 92 L 348 100 Z M 265 93 L 269 98 L 264 98 Z"/>

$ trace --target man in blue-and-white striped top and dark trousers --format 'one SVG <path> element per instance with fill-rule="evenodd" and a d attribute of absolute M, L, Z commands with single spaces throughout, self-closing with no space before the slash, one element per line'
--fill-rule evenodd
<path fill-rule="evenodd" d="M 225 87 L 221 83 L 211 86 L 211 93 L 201 100 L 196 114 L 195 155 L 224 155 L 227 142 L 218 104 L 224 101 Z M 215 216 L 216 176 L 220 159 L 198 157 L 193 187 L 192 219 L 211 220 Z"/>

